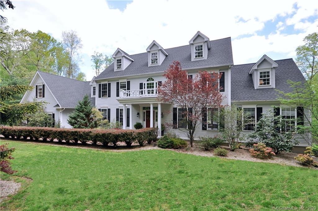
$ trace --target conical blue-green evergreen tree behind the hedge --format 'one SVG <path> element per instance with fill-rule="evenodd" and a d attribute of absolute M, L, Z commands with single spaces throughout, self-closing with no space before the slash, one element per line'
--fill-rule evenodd
<path fill-rule="evenodd" d="M 83 100 L 75 106 L 75 110 L 69 115 L 67 122 L 73 128 L 96 127 L 96 121 L 92 116 L 92 108 L 88 95 L 85 95 Z"/>

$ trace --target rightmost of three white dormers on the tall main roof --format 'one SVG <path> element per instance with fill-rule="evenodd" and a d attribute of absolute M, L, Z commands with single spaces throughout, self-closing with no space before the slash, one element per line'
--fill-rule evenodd
<path fill-rule="evenodd" d="M 208 57 L 208 50 L 211 48 L 211 44 L 207 36 L 198 31 L 190 39 L 189 44 L 191 45 L 191 61 L 203 60 Z"/>

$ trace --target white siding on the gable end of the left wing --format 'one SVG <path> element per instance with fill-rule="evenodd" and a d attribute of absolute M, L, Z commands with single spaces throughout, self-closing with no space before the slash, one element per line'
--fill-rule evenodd
<path fill-rule="evenodd" d="M 55 124 L 59 121 L 59 110 L 57 110 L 54 106 L 58 104 L 56 100 L 54 99 L 53 95 L 51 94 L 49 88 L 45 86 L 44 88 L 44 97 L 43 98 L 36 98 L 35 97 L 35 86 L 36 85 L 42 85 L 44 84 L 43 80 L 36 75 L 35 76 L 35 82 L 34 82 L 34 88 L 30 91 L 28 96 L 26 96 L 25 101 L 27 102 L 40 102 L 40 101 L 45 101 L 47 104 L 44 107 L 44 111 L 47 113 L 54 113 L 55 116 Z"/>

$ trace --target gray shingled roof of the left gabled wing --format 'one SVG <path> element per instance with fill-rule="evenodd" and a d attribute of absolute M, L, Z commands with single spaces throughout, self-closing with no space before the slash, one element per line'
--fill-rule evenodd
<path fill-rule="evenodd" d="M 74 108 L 84 95 L 91 96 L 90 81 L 78 81 L 38 71 L 47 86 L 52 91 L 62 108 Z M 95 106 L 95 98 L 90 97 L 91 104 Z"/>

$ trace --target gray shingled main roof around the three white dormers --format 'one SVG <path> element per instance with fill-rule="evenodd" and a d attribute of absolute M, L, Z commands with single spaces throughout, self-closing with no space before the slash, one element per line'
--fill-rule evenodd
<path fill-rule="evenodd" d="M 114 64 L 107 67 L 99 76 L 95 78 L 114 78 L 127 75 L 147 74 L 163 72 L 168 69 L 172 62 L 180 61 L 183 69 L 201 68 L 201 67 L 219 67 L 233 65 L 231 38 L 211 40 L 211 49 L 208 52 L 206 60 L 191 61 L 191 46 L 180 46 L 165 49 L 169 54 L 161 65 L 148 67 L 148 52 L 130 55 L 133 61 L 125 70 L 114 71 Z"/>

